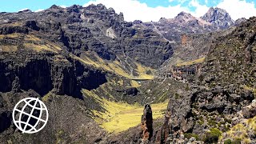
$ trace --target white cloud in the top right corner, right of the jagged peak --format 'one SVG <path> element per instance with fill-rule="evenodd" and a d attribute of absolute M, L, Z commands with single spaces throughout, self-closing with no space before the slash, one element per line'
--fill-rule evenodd
<path fill-rule="evenodd" d="M 226 10 L 234 20 L 256 16 L 254 2 L 246 2 L 245 0 L 223 0 L 218 3 L 217 7 Z"/>

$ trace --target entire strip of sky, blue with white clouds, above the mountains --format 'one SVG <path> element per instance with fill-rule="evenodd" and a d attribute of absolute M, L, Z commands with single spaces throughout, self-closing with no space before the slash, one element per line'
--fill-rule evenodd
<path fill-rule="evenodd" d="M 8 0 L 1 3 L 0 11 L 17 12 L 26 8 L 37 11 L 54 4 L 88 6 L 90 3 L 103 3 L 107 7 L 113 7 L 117 13 L 123 12 L 127 21 L 158 21 L 162 17 L 174 18 L 181 11 L 200 17 L 211 6 L 227 10 L 234 20 L 256 15 L 256 0 Z"/>

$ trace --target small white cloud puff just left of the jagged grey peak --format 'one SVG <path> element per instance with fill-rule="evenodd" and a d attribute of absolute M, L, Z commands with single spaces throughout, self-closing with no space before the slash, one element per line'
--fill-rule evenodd
<path fill-rule="evenodd" d="M 192 0 L 190 2 L 190 6 L 195 7 L 195 11 L 191 14 L 198 18 L 201 17 L 203 14 L 206 14 L 207 10 L 209 10 L 209 7 L 207 7 L 206 5 L 201 5 L 197 0 Z"/>

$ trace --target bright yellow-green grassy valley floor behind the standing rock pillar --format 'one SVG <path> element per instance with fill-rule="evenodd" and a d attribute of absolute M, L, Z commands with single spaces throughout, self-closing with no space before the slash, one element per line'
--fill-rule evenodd
<path fill-rule="evenodd" d="M 138 126 L 144 110 L 143 106 L 125 102 L 112 102 L 99 98 L 93 91 L 82 90 L 87 97 L 93 97 L 105 109 L 105 112 L 93 110 L 94 120 L 109 132 L 118 133 L 130 127 Z M 168 102 L 152 104 L 153 118 L 162 118 Z"/>

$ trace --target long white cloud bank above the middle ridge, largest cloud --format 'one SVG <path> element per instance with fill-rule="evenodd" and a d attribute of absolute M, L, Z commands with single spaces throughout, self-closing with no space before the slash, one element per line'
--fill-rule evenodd
<path fill-rule="evenodd" d="M 102 3 L 107 8 L 112 7 L 116 13 L 122 12 L 126 21 L 134 21 L 135 19 L 143 22 L 158 21 L 160 18 L 174 18 L 182 11 L 189 12 L 186 7 L 168 6 L 168 7 L 150 7 L 146 3 L 141 3 L 136 0 L 94 0 L 86 3 L 84 6 L 90 4 Z"/>

